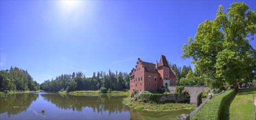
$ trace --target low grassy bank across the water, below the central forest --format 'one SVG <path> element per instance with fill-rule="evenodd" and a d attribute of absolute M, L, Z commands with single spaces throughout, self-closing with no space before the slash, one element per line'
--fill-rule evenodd
<path fill-rule="evenodd" d="M 66 91 L 59 92 L 59 94 L 67 94 Z M 76 96 L 88 96 L 88 95 L 102 95 L 104 93 L 101 93 L 100 91 L 73 91 L 69 92 L 70 95 L 76 95 Z M 107 91 L 105 93 L 107 95 L 129 95 L 129 91 Z"/>

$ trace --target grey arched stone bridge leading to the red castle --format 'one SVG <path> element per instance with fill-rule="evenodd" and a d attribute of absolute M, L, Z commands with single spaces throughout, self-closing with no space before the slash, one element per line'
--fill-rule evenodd
<path fill-rule="evenodd" d="M 167 87 L 171 93 L 176 92 L 176 86 Z M 202 103 L 202 93 L 204 91 L 210 90 L 209 86 L 184 86 L 181 93 L 190 95 L 190 104 L 194 106 L 199 106 Z"/>

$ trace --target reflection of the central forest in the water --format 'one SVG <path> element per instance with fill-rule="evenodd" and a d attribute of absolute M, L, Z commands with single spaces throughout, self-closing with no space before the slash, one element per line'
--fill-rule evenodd
<path fill-rule="evenodd" d="M 111 113 L 121 113 L 128 111 L 128 107 L 122 104 L 124 97 L 111 97 L 107 95 L 101 96 L 73 96 L 60 94 L 41 94 L 41 96 L 55 104 L 56 107 L 64 110 L 73 110 L 81 112 L 86 107 L 93 109 L 93 112 L 103 113 L 109 111 Z"/>

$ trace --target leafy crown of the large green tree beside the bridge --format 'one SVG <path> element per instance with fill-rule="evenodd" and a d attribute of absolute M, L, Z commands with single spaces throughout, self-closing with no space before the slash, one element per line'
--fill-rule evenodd
<path fill-rule="evenodd" d="M 256 15 L 244 3 L 232 3 L 223 11 L 219 6 L 216 18 L 197 28 L 195 40 L 183 46 L 183 58 L 192 58 L 197 75 L 213 88 L 255 79 L 256 51 L 249 44 L 254 40 Z M 255 45 L 255 44 L 254 44 Z"/>

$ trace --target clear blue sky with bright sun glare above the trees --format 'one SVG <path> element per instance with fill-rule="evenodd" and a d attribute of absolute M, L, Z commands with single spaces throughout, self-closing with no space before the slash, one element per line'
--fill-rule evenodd
<path fill-rule="evenodd" d="M 255 1 L 1 1 L 0 67 L 42 83 L 73 71 L 129 73 L 138 57 L 155 63 L 162 54 L 192 65 L 180 58 L 183 44 L 233 2 L 255 11 Z"/>

